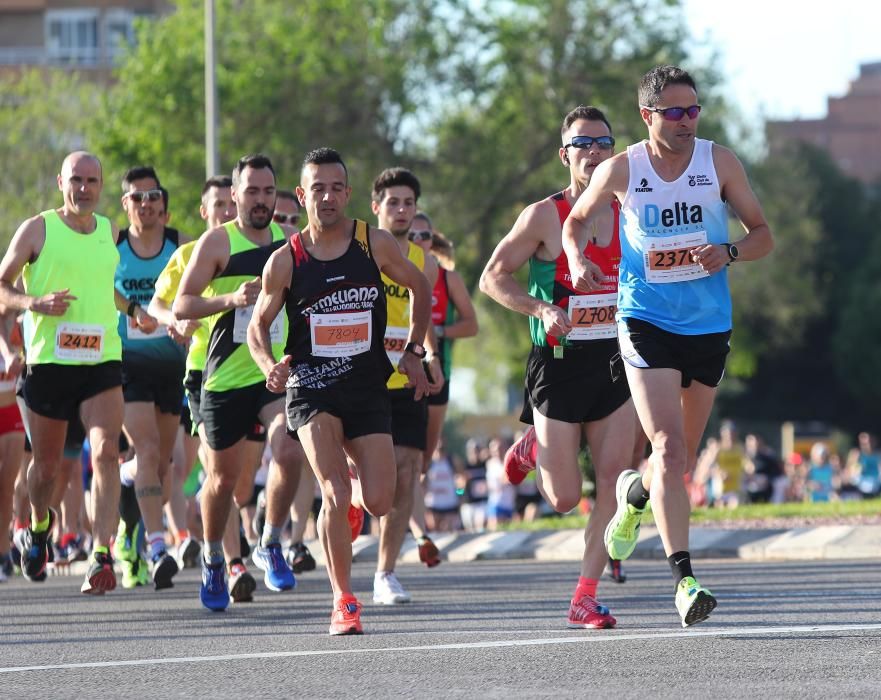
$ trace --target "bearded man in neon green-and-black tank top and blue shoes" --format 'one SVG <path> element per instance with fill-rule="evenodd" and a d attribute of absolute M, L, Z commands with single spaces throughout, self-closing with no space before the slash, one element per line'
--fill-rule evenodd
<path fill-rule="evenodd" d="M 266 572 L 264 581 L 270 590 L 295 585 L 281 552 L 280 536 L 305 459 L 302 448 L 285 431 L 284 400 L 266 388 L 246 342 L 263 266 L 273 251 L 286 244 L 282 228 L 272 222 L 275 171 L 265 156 L 245 156 L 236 164 L 232 180 L 238 215 L 199 239 L 173 306 L 178 318 L 208 321 L 201 410 L 209 459 L 202 491 L 205 544 L 200 597 L 212 610 L 229 605 L 221 539 L 251 427 L 258 420 L 266 426 L 273 455 L 266 487 L 266 526 L 254 552 L 254 563 Z M 287 339 L 286 329 L 287 318 L 282 314 L 272 329 L 279 354 Z"/>

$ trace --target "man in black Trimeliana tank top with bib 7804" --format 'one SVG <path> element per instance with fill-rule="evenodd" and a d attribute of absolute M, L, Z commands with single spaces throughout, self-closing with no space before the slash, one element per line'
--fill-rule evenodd
<path fill-rule="evenodd" d="M 306 156 L 297 196 L 309 226 L 292 238 L 290 248 L 270 257 L 248 327 L 248 345 L 266 387 L 287 391 L 288 431 L 302 442 L 321 486 L 318 527 L 334 594 L 332 635 L 362 632 L 361 604 L 351 582 L 358 529 L 348 516 L 359 511 L 353 501 L 383 516 L 392 507 L 397 479 L 380 273 L 408 290 L 411 325 L 398 369 L 416 399 L 428 392 L 413 351 L 430 321 L 428 281 L 388 231 L 346 217 L 350 195 L 348 172 L 336 151 L 320 148 Z M 277 358 L 270 328 L 282 309 L 290 332 L 286 354 Z M 353 494 L 353 484 L 360 493 Z"/>

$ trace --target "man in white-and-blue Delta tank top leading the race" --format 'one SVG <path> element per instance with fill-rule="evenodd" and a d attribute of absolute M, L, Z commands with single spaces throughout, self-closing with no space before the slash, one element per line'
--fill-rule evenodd
<path fill-rule="evenodd" d="M 700 104 L 684 70 L 658 66 L 639 86 L 648 140 L 597 168 L 563 227 L 576 289 L 600 287 L 583 251 L 593 219 L 621 206 L 618 342 L 639 420 L 652 445 L 649 468 L 618 478 L 618 509 L 606 529 L 610 556 L 625 559 L 649 500 L 687 627 L 716 607 L 694 578 L 684 477 L 694 467 L 731 336 L 728 265 L 764 257 L 771 231 L 737 157 L 696 138 Z M 728 209 L 746 235 L 728 242 Z"/>

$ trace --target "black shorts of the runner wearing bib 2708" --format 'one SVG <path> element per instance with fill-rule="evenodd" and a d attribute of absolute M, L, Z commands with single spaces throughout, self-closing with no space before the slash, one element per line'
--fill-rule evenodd
<path fill-rule="evenodd" d="M 520 420 L 532 411 L 564 423 L 590 423 L 613 414 L 630 398 L 630 388 L 614 339 L 562 348 L 533 345 L 526 364 L 526 390 Z"/>

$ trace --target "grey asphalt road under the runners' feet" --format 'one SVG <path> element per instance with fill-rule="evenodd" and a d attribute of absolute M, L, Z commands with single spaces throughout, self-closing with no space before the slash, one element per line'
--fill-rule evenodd
<path fill-rule="evenodd" d="M 876 697 L 881 564 L 698 561 L 719 598 L 683 630 L 663 561 L 634 561 L 600 599 L 615 630 L 568 630 L 567 562 L 402 566 L 413 602 L 370 602 L 363 637 L 327 635 L 322 571 L 296 591 L 203 610 L 197 572 L 156 593 L 79 593 L 79 578 L 0 586 L 2 697 Z"/>

